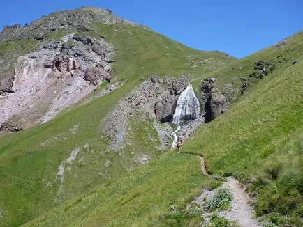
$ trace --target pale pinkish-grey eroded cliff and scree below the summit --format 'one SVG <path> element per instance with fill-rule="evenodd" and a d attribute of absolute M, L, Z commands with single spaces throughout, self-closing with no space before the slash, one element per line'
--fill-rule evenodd
<path fill-rule="evenodd" d="M 31 127 L 75 104 L 104 80 L 110 81 L 114 47 L 74 34 L 20 56 L 10 92 L 0 95 L 0 125 Z"/>

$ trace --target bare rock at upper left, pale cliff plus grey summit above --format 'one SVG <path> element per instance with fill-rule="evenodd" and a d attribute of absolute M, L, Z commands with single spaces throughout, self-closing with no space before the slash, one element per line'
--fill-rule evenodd
<path fill-rule="evenodd" d="M 50 120 L 102 81 L 112 80 L 114 46 L 103 36 L 89 37 L 92 22 L 131 24 L 110 10 L 80 8 L 43 16 L 24 27 L 3 29 L 0 47 L 6 49 L 0 48 L 0 125 L 26 128 Z M 54 36 L 61 31 L 71 33 Z M 15 43 L 19 44 L 13 49 Z"/>

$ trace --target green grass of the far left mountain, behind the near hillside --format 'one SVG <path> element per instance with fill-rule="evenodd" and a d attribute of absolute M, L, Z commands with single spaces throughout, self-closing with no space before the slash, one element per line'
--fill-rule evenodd
<path fill-rule="evenodd" d="M 220 52 L 200 52 L 185 47 L 145 27 L 100 22 L 91 26 L 94 31 L 89 36 L 105 36 L 117 47 L 114 70 L 117 79 L 128 81 L 119 90 L 68 111 L 55 120 L 0 139 L 2 226 L 19 226 L 63 201 L 117 178 L 138 166 L 133 159 L 143 152 L 151 157 L 161 155 L 154 142 L 146 141 L 149 134 L 154 134 L 156 138 L 156 132 L 147 123 L 130 125 L 130 136 L 142 142 L 128 146 L 120 154 L 106 150 L 108 139 L 101 138 L 103 118 L 140 83 L 140 77 L 156 73 L 172 76 L 188 73 L 194 79 L 201 72 L 210 71 L 191 68 L 188 65 L 191 61 L 189 55 L 195 56 L 195 61 L 211 56 L 216 65 L 214 67 L 233 61 L 233 58 Z M 47 40 L 60 39 L 73 32 L 75 29 L 54 31 Z M 22 38 L 20 40 L 22 42 Z M 5 41 L 6 44 L 11 42 Z M 41 43 L 32 43 L 32 47 L 38 48 Z M 1 53 L 8 52 L 8 45 L 0 47 Z M 66 159 L 77 149 L 75 162 L 67 163 Z M 65 169 L 64 187 L 60 191 L 62 179 L 58 172 L 61 164 L 65 165 Z"/>

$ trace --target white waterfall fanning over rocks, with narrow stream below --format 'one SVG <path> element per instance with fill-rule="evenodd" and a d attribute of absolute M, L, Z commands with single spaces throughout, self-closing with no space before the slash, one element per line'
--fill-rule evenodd
<path fill-rule="evenodd" d="M 174 141 L 172 142 L 172 148 L 177 144 L 178 136 L 177 132 L 181 129 L 181 124 L 186 120 L 195 120 L 201 114 L 200 103 L 195 96 L 193 86 L 189 84 L 184 91 L 180 94 L 175 109 L 175 114 L 172 116 L 172 123 L 178 125 L 177 130 L 172 132 Z"/>

